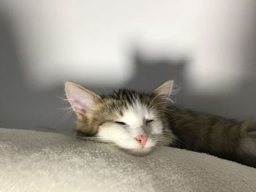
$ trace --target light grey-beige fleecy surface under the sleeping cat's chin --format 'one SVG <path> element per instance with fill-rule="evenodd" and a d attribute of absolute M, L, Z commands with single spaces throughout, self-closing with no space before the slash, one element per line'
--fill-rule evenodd
<path fill-rule="evenodd" d="M 256 169 L 172 147 L 138 157 L 64 134 L 0 128 L 0 191 L 256 191 Z"/>

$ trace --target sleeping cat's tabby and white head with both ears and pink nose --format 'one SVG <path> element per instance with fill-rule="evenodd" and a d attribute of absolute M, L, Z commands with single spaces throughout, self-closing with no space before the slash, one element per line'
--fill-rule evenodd
<path fill-rule="evenodd" d="M 67 99 L 77 116 L 75 128 L 137 155 L 174 139 L 165 117 L 172 88 L 170 80 L 152 93 L 119 90 L 99 96 L 73 82 L 65 83 Z"/>

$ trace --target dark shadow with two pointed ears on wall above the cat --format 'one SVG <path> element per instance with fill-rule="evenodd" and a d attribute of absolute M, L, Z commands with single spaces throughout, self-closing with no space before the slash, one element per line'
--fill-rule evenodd
<path fill-rule="evenodd" d="M 137 50 L 132 55 L 135 74 L 125 83 L 124 88 L 150 92 L 167 80 L 176 80 L 176 85 L 184 81 L 186 59 L 172 61 L 170 58 L 150 60 Z"/>

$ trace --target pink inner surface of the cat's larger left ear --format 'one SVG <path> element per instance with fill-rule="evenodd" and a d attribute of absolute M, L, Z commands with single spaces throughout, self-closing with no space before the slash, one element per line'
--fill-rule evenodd
<path fill-rule="evenodd" d="M 96 102 L 90 93 L 72 84 L 67 85 L 66 93 L 73 110 L 80 114 L 85 114 L 91 110 Z"/>

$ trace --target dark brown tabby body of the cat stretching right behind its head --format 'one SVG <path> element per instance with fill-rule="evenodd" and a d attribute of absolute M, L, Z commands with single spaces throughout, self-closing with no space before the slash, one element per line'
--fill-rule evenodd
<path fill-rule="evenodd" d="M 169 126 L 176 136 L 170 146 L 256 166 L 255 121 L 237 121 L 178 107 L 167 109 Z"/>

